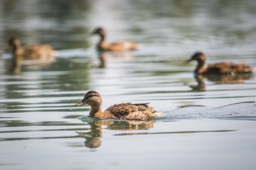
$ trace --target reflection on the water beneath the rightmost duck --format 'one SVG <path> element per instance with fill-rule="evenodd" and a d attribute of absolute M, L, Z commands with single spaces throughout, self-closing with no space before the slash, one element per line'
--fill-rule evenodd
<path fill-rule="evenodd" d="M 251 79 L 252 73 L 241 73 L 241 74 L 195 74 L 195 80 L 197 85 L 190 85 L 192 91 L 206 91 L 205 79 L 215 82 L 216 84 L 239 84 L 244 83 L 243 80 Z"/>

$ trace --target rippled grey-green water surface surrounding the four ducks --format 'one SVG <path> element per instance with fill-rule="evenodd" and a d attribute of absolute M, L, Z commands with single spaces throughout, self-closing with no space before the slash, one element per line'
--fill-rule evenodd
<path fill-rule="evenodd" d="M 254 169 L 256 77 L 195 77 L 184 61 L 256 66 L 256 3 L 247 1 L 0 1 L 0 45 L 48 43 L 55 61 L 0 51 L 0 169 Z M 140 50 L 96 52 L 107 40 Z M 151 102 L 149 121 L 91 119 L 75 108 L 95 90 L 103 106 Z"/>

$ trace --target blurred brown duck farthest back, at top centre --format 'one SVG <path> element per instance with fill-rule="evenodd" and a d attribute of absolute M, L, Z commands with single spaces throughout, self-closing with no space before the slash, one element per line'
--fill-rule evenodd
<path fill-rule="evenodd" d="M 97 49 L 99 51 L 130 51 L 136 50 L 137 44 L 135 42 L 124 41 L 124 42 L 114 42 L 107 43 L 105 42 L 105 30 L 103 28 L 96 28 L 92 34 L 99 34 L 100 40 L 97 44 Z"/>

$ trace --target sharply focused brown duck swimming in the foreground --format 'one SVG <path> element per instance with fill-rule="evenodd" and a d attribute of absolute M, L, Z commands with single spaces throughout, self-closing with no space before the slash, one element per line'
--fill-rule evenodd
<path fill-rule="evenodd" d="M 102 98 L 96 91 L 89 91 L 75 106 L 90 105 L 90 117 L 99 119 L 146 120 L 159 115 L 148 103 L 120 103 L 102 112 Z"/>

